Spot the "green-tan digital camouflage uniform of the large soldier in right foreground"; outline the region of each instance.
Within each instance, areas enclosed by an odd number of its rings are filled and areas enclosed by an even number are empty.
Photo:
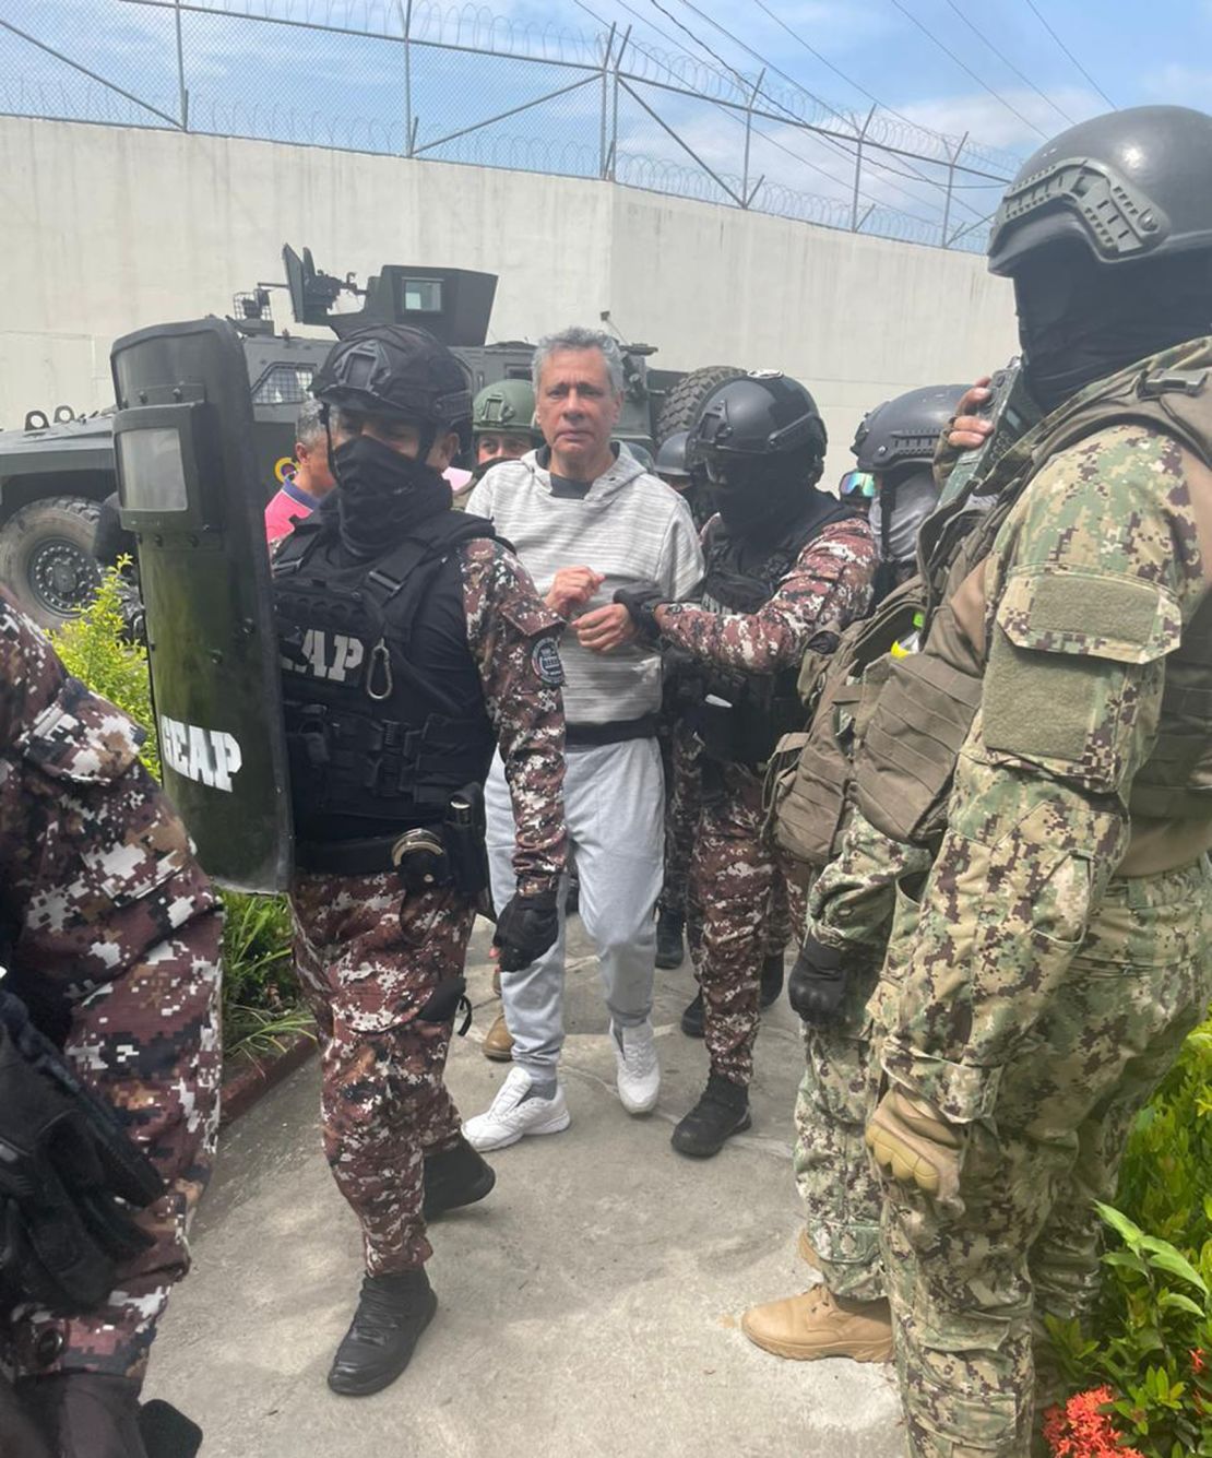
[[[887,1188],[914,1454],[1028,1451],[1038,1318],[1089,1314],[1091,1200],[1212,996],[1209,439],[1043,452],[974,582],[980,703],[875,1002],[885,1073],[963,1137],[958,1198]]]

